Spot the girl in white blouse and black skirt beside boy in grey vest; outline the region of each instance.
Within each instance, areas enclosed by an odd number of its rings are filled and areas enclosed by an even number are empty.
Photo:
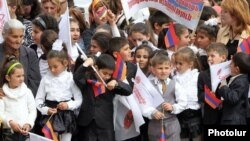
[[[187,105],[178,119],[181,124],[181,139],[201,139],[201,111],[197,97],[197,82],[199,72],[196,68],[197,57],[194,52],[187,47],[179,49],[175,53],[175,65],[177,74],[174,77],[175,94],[178,97],[186,97]],[[173,114],[177,114],[175,107],[169,106],[167,109]]]

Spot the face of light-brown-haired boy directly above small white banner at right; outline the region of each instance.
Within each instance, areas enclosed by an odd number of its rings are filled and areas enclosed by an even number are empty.
[[[220,64],[226,60],[226,55],[220,55],[216,51],[207,52],[207,61],[209,65]]]

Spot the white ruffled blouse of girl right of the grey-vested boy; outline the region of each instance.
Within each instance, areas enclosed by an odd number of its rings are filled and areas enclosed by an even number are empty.
[[[188,69],[183,74],[177,73],[175,80],[175,95],[178,98],[186,97],[187,106],[185,109],[197,110],[200,108],[198,103],[198,75],[197,69]]]

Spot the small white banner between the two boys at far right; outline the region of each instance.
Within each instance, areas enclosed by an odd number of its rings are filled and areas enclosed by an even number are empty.
[[[230,74],[230,63],[231,61],[227,61],[220,64],[215,64],[210,66],[210,74],[211,74],[211,84],[212,84],[212,91],[215,92],[218,84],[225,80]]]

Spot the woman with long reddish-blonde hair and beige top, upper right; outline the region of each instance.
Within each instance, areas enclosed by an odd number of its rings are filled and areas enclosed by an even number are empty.
[[[242,40],[250,35],[249,5],[246,0],[224,0],[221,8],[221,20],[226,25],[219,30],[217,42],[227,46],[231,59]]]

